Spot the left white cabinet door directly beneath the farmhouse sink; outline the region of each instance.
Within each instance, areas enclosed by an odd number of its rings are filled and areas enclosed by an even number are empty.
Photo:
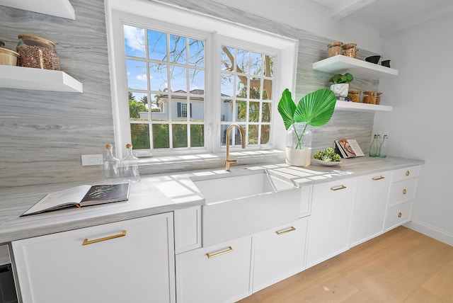
[[[251,245],[245,236],[176,255],[177,302],[236,302],[251,295]]]

